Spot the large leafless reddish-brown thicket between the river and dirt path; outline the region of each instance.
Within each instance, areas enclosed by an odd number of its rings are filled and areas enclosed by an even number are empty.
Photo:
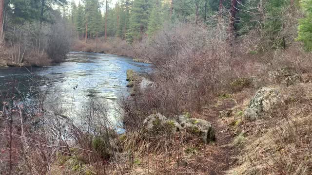
[[[216,33],[204,25],[179,23],[168,26],[148,44],[135,44],[136,57],[149,59],[155,67],[150,78],[157,88],[137,90],[128,108],[136,117],[144,118],[153,111],[173,117],[212,103],[223,84],[221,77],[231,76],[224,37],[222,30]]]

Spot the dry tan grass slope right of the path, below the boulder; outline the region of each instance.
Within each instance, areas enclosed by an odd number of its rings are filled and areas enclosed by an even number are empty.
[[[234,144],[242,146],[241,156],[228,174],[311,174],[311,90],[312,84],[283,88],[288,101],[272,118],[235,125],[246,137],[240,144],[240,135],[234,140]]]

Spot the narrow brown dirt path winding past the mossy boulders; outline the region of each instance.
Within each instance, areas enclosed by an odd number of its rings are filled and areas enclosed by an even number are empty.
[[[195,170],[197,175],[223,175],[234,163],[235,150],[230,146],[233,141],[233,131],[229,124],[219,118],[219,111],[234,107],[235,102],[230,99],[221,101],[217,106],[204,109],[202,119],[212,123],[216,132],[216,141],[203,145],[200,153],[193,157],[194,161],[188,166]]]

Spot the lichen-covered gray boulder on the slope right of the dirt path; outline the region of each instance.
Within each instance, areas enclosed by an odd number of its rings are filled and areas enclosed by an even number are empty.
[[[244,116],[250,120],[260,119],[281,103],[283,103],[283,99],[280,88],[260,88],[250,101]]]

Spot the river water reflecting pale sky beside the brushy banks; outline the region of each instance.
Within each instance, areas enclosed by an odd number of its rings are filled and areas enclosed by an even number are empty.
[[[118,99],[128,95],[126,70],[150,70],[149,64],[111,54],[72,52],[65,62],[55,66],[0,68],[0,94],[16,91],[35,98],[30,89],[48,92],[48,98],[62,98],[62,104],[77,108],[89,99],[105,99],[111,118],[118,117]],[[17,87],[17,88],[15,88]]]

